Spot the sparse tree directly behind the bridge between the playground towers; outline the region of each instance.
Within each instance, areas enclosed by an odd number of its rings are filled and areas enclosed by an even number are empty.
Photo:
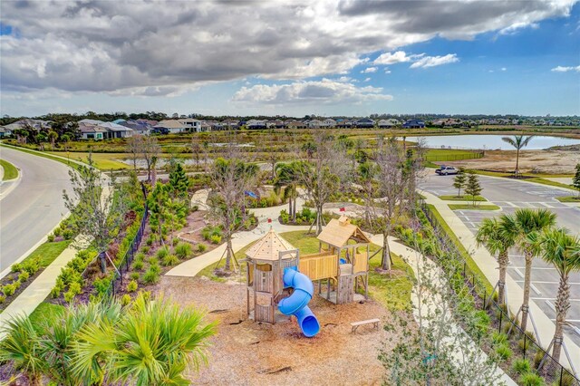
[[[346,150],[333,137],[315,131],[313,141],[305,150],[312,152],[308,160],[297,164],[296,173],[304,196],[316,209],[316,235],[323,231],[323,207],[348,175]]]

